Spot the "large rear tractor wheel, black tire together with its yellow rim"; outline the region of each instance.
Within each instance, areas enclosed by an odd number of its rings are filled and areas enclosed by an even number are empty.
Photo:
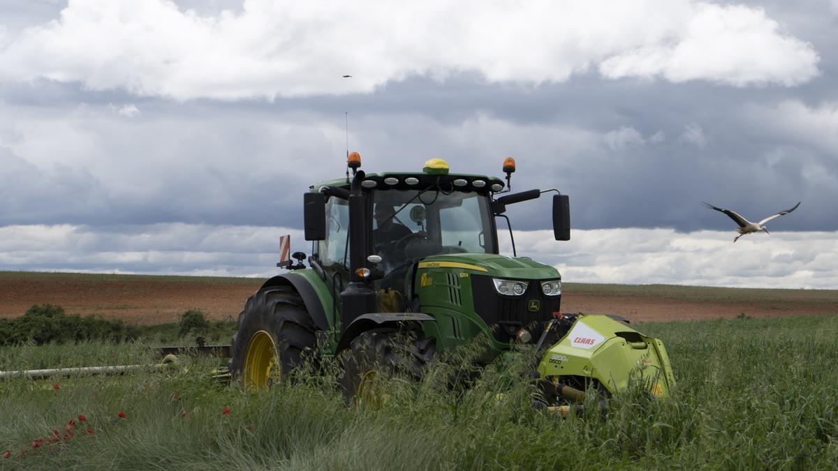
[[[230,373],[246,390],[267,389],[316,353],[316,326],[292,287],[266,287],[247,299],[230,344]]]

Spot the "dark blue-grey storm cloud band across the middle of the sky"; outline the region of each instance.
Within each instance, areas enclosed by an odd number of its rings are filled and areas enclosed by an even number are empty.
[[[134,119],[115,112],[75,116],[69,120],[75,125],[58,134],[43,123],[27,137],[41,146],[65,133],[92,133],[85,149],[91,162],[37,167],[7,149],[11,164],[3,176],[39,183],[16,184],[18,211],[0,218],[4,224],[297,224],[299,195],[308,184],[343,173],[343,111],[349,110],[350,147],[364,155],[368,170],[416,170],[427,158],[442,157],[456,171],[497,175],[502,159],[515,156],[513,188],[571,194],[580,228],[729,227],[723,216],[703,210],[701,200],[755,219],[804,200],[779,221],[785,229],[838,228],[829,203],[838,197],[835,148],[780,132],[766,117],[778,112],[786,92],[737,98],[726,87],[680,85],[679,93],[677,85],[629,87],[626,81],[572,80],[578,94],[551,87],[537,101],[475,82],[471,96],[460,96],[412,79],[395,85],[410,91],[388,87],[331,103],[154,102],[140,104]],[[702,138],[691,141],[691,132]],[[61,147],[56,141],[50,150]],[[815,164],[826,170],[820,183],[807,175]],[[548,210],[544,199],[511,214],[516,227],[536,229],[546,226]]]

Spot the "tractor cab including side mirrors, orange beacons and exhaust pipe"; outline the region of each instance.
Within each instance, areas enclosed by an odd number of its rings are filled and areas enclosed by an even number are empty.
[[[497,256],[496,216],[503,215],[507,204],[544,193],[535,189],[504,194],[515,172],[511,158],[504,162],[506,184],[486,175],[450,173],[439,158],[429,160],[422,172],[357,171],[356,153],[349,164],[355,172],[352,179],[313,186],[305,204],[306,239],[317,241],[313,260],[339,292],[352,282],[356,284],[350,298],[366,292],[359,304],[363,312],[357,315],[347,313],[347,305],[341,303],[344,325],[364,313],[420,312],[420,262],[428,257]],[[554,198],[557,240],[570,236],[566,200],[561,194]]]

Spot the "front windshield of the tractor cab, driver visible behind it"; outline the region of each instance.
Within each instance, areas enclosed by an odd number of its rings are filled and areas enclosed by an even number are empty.
[[[494,253],[491,228],[484,195],[439,189],[374,193],[373,250],[390,251],[394,263],[446,253]]]

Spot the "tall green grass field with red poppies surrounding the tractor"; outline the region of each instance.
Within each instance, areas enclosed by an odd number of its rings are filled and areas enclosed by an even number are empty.
[[[186,358],[163,373],[0,382],[0,468],[556,469],[834,468],[838,318],[647,323],[665,341],[670,400],[630,390],[603,415],[530,406],[525,359],[467,390],[448,365],[394,379],[380,406],[347,407],[334,370],[245,393]],[[0,349],[0,368],[142,363],[144,345]],[[113,355],[113,356],[111,356]],[[53,363],[53,362],[57,362]],[[36,365],[36,366],[33,366]],[[592,406],[593,404],[588,404]],[[224,408],[230,410],[224,413]],[[124,411],[125,418],[117,416]],[[185,414],[184,414],[185,412]],[[84,414],[68,440],[33,440]],[[25,456],[23,456],[25,453]]]

